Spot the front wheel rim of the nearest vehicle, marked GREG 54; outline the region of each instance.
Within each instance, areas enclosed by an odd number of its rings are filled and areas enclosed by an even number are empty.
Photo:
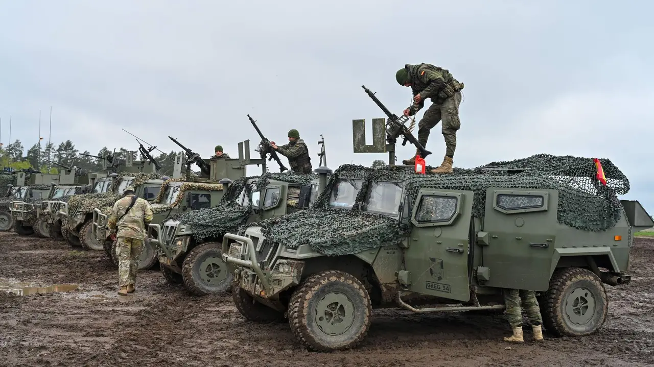
[[[343,334],[354,323],[354,303],[343,293],[329,293],[318,301],[315,321],[325,334]]]

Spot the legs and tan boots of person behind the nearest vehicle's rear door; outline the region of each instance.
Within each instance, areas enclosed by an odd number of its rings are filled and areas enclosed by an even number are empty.
[[[523,289],[502,289],[504,292],[504,305],[506,306],[506,314],[508,315],[509,325],[513,329],[513,335],[504,338],[505,342],[522,343],[523,340],[523,313],[520,309],[520,304],[525,306],[525,311],[532,324],[534,332],[534,340],[543,340],[543,319],[540,315],[540,308],[538,307],[538,300],[536,300],[536,292],[525,291]],[[522,300],[522,302],[521,302]]]

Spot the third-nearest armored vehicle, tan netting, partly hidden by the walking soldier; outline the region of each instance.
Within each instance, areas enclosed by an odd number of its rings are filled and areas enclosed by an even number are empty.
[[[175,140],[177,144],[177,140]],[[179,144],[182,149],[187,148]],[[185,159],[186,158],[186,159]],[[201,172],[199,176],[191,176],[190,164],[196,163]],[[245,169],[239,163],[239,159],[217,158],[200,159],[192,151],[186,152],[186,155],[175,157],[174,176],[181,176],[182,166],[186,165],[186,177],[175,178],[163,182],[159,194],[152,204],[154,218],[150,225],[159,225],[166,219],[175,217],[179,214],[211,208],[218,204],[223,197],[224,189],[222,183],[229,183],[232,180],[245,175]],[[107,231],[107,219],[111,212],[111,207],[104,210],[95,208],[94,211],[94,234],[96,240],[105,241],[105,248],[109,247],[107,255],[116,266],[115,246],[116,242],[111,241]],[[152,268],[158,260],[156,248],[150,244],[152,239],[148,236],[145,240],[145,249],[139,259],[139,270]]]

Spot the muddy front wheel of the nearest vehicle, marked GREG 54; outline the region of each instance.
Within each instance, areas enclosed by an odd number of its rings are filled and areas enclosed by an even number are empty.
[[[288,304],[288,323],[310,351],[342,351],[359,345],[370,329],[372,306],[351,274],[319,272],[301,283]]]

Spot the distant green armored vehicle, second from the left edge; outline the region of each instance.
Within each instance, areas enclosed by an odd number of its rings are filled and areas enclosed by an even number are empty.
[[[48,160],[46,159],[46,161]],[[12,217],[16,223],[21,224],[19,233],[21,235],[33,233],[39,238],[50,237],[48,231],[50,202],[54,199],[61,200],[63,197],[86,193],[86,189],[88,189],[88,174],[86,172],[73,165],[66,167],[60,163],[48,162],[63,168],[58,174],[58,183],[50,183],[48,195],[28,199],[27,201],[17,200],[12,202]],[[31,230],[29,230],[29,227],[31,227]]]

